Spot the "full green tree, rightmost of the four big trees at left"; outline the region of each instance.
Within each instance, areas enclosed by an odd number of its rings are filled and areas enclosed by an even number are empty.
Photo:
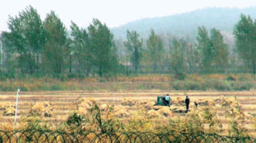
[[[118,65],[114,35],[106,24],[94,19],[88,27],[89,53],[97,73],[107,75],[115,73]],[[91,58],[91,56],[90,56]]]

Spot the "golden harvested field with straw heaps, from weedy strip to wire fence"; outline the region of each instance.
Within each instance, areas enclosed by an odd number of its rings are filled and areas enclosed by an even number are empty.
[[[170,108],[154,106],[157,95],[169,93],[174,104]],[[185,95],[190,97],[190,111],[184,113]],[[0,96],[0,129],[13,130],[14,92]],[[199,103],[195,108],[194,101]],[[170,127],[172,122],[182,126],[188,122],[207,132],[256,137],[256,91],[47,91],[22,92],[19,96],[17,128],[29,127],[36,120],[40,126],[56,129],[74,113],[89,121],[89,111],[99,106],[102,122],[115,124],[113,129],[127,131],[155,131]],[[33,115],[33,116],[31,116]],[[36,115],[36,116],[35,116]],[[31,117],[36,117],[31,119]],[[195,121],[198,120],[198,121]],[[167,124],[166,124],[167,122]],[[157,124],[156,124],[157,123]],[[24,126],[24,124],[26,126]],[[122,124],[124,127],[119,127]],[[81,125],[96,129],[94,124]],[[177,126],[177,125],[175,125]],[[179,125],[181,126],[181,125]],[[195,125],[193,125],[195,126]],[[66,128],[66,127],[65,127]]]

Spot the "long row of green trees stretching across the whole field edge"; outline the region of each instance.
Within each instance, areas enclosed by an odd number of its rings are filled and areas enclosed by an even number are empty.
[[[0,37],[5,75],[175,73],[182,79],[187,73],[256,72],[256,21],[243,14],[234,28],[235,48],[220,30],[204,26],[195,42],[153,29],[147,39],[135,30],[127,30],[125,40],[114,39],[98,19],[87,28],[71,22],[68,31],[54,11],[42,21],[32,6],[7,24]]]

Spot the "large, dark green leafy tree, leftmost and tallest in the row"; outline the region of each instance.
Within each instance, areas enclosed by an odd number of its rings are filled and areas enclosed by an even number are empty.
[[[9,39],[19,54],[19,67],[22,73],[31,74],[39,70],[39,57],[45,44],[45,30],[39,14],[32,6],[19,12],[19,16],[9,17]]]

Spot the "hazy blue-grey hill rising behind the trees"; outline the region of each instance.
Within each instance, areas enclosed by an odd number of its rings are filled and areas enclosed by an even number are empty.
[[[142,37],[146,38],[152,28],[158,34],[189,35],[194,39],[197,34],[197,27],[204,25],[207,29],[216,28],[232,34],[233,27],[239,21],[242,13],[256,18],[256,7],[244,9],[215,7],[172,16],[145,18],[112,28],[112,32],[116,39],[124,39],[127,29],[137,30]]]

